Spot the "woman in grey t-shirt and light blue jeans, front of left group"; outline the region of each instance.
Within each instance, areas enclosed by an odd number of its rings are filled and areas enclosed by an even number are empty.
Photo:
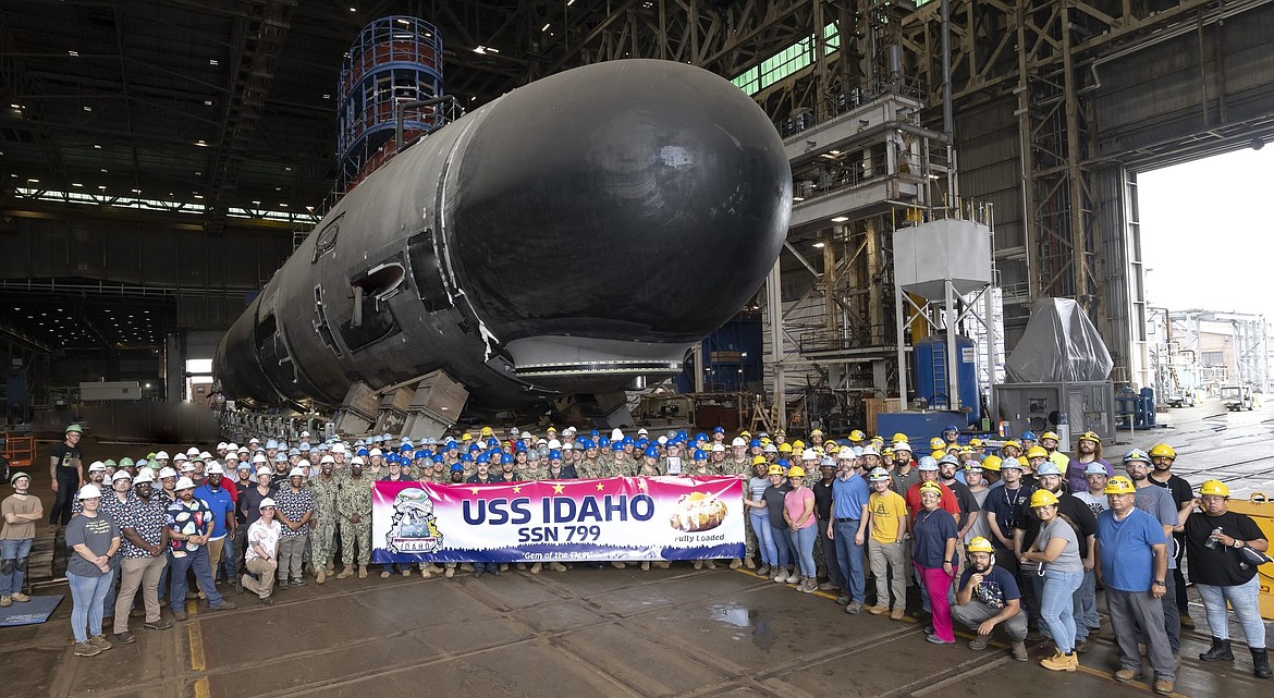
[[[92,657],[112,647],[102,634],[102,604],[115,578],[111,557],[120,549],[120,527],[98,513],[102,490],[97,485],[84,485],[78,497],[83,511],[66,524],[66,581],[75,655]]]

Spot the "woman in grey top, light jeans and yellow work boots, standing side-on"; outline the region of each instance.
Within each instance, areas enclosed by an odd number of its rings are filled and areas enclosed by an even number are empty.
[[[1040,618],[1057,646],[1057,653],[1040,660],[1040,666],[1052,671],[1075,671],[1075,590],[1084,581],[1084,562],[1079,555],[1079,536],[1070,524],[1057,516],[1057,495],[1038,489],[1031,495],[1031,508],[1040,517],[1040,535],[1029,550],[1022,553],[1022,566],[1042,566],[1043,590]]]

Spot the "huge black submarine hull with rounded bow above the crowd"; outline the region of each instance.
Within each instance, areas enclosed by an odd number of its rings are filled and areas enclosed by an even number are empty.
[[[558,73],[347,194],[227,331],[214,378],[339,406],[441,371],[483,410],[662,380],[761,287],[791,186],[775,126],[719,75]]]

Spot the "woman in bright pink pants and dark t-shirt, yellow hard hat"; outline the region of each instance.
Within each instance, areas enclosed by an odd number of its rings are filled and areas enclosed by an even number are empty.
[[[956,518],[939,504],[943,490],[936,483],[920,488],[921,511],[911,524],[912,560],[916,574],[925,583],[929,605],[934,609],[934,630],[925,639],[936,645],[956,642],[952,630],[952,608],[947,591],[956,577]]]

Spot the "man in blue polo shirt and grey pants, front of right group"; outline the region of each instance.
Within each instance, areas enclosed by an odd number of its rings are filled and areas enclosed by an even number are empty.
[[[1116,475],[1106,483],[1110,509],[1097,516],[1097,583],[1106,587],[1111,628],[1119,643],[1120,664],[1115,679],[1131,681],[1142,673],[1136,647],[1138,625],[1147,637],[1147,657],[1154,669],[1154,692],[1172,693],[1176,667],[1163,628],[1163,596],[1167,594],[1168,546],[1163,527],[1136,508],[1133,480]]]

